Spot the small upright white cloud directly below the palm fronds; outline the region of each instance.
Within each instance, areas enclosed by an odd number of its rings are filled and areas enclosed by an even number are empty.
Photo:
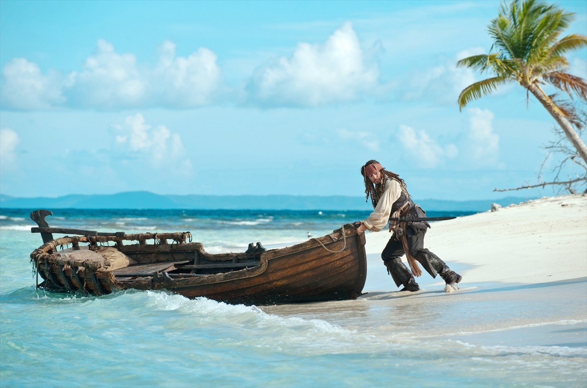
[[[500,151],[500,137],[493,132],[491,111],[468,108],[469,126],[467,132],[467,154],[478,166],[496,167]]]

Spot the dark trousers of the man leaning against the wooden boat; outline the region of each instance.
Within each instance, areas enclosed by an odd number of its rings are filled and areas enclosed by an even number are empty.
[[[433,278],[436,278],[436,274],[440,274],[443,277],[443,273],[450,269],[440,260],[438,256],[424,248],[424,235],[426,234],[426,226],[410,226],[406,230],[407,247],[413,256],[429,273]],[[402,240],[397,233],[393,233],[392,237],[387,241],[387,245],[381,253],[383,263],[387,267],[387,271],[392,275],[393,281],[397,287],[400,285],[407,285],[416,283],[414,275],[411,274],[410,270],[402,262],[402,256],[406,253],[402,244]]]

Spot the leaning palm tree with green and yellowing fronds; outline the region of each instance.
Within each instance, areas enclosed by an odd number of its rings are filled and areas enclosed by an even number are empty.
[[[548,95],[541,84],[551,84],[573,98],[573,93],[587,101],[587,83],[581,77],[566,72],[569,63],[563,56],[569,50],[587,46],[587,36],[572,34],[559,38],[573,21],[574,13],[541,1],[512,1],[502,3],[497,18],[488,26],[494,43],[489,55],[474,55],[461,59],[457,66],[470,67],[481,73],[490,71],[495,77],[465,87],[458,96],[458,106],[477,100],[505,83],[517,82],[534,94],[554,117],[573,147],[587,162],[587,147],[573,128],[581,123],[569,101],[559,101]],[[493,48],[497,52],[492,52]]]

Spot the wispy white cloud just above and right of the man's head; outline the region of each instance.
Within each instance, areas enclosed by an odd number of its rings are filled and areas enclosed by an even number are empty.
[[[447,159],[456,158],[458,155],[456,145],[447,144],[443,147],[425,131],[416,131],[407,125],[400,124],[397,139],[403,148],[413,155],[410,161],[419,167],[438,167]]]

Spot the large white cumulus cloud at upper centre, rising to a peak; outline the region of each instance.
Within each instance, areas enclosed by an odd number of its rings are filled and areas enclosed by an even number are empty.
[[[366,64],[350,22],[324,44],[299,43],[291,57],[255,70],[247,86],[251,100],[267,105],[317,106],[355,100],[376,85],[379,70]]]

